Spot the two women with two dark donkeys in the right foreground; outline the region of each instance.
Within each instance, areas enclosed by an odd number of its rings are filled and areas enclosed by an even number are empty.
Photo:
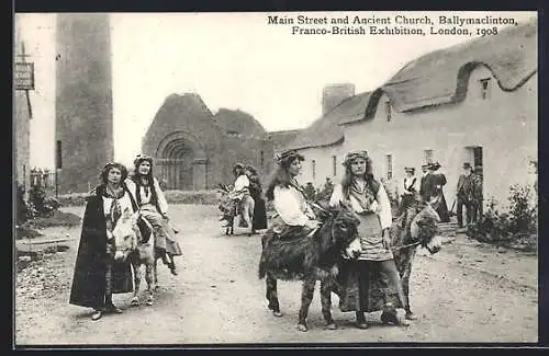
[[[277,211],[261,238],[259,277],[266,278],[269,308],[280,317],[277,279],[303,280],[298,329],[306,331],[307,310],[316,280],[328,329],[330,294],[341,311],[356,312],[356,325],[367,329],[367,312],[382,311],[381,321],[410,325],[416,319],[408,300],[408,280],[417,245],[440,249],[438,214],[429,202],[410,203],[393,222],[383,185],[374,179],[366,151],[349,152],[345,176],[327,200],[309,202],[298,183],[302,161],[295,151],[277,157],[277,170],[266,192]],[[396,310],[403,308],[405,317]]]

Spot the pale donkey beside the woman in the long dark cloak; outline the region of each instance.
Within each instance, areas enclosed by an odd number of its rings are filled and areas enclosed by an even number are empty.
[[[146,236],[142,234],[138,227],[138,221],[146,226]],[[155,238],[150,223],[141,217],[141,213],[132,213],[130,208],[125,208],[122,216],[116,221],[116,226],[112,231],[114,238],[115,253],[114,260],[128,260],[134,269],[134,297],[132,306],[139,305],[137,294],[141,285],[141,266],[145,265],[145,280],[147,282],[147,306],[154,303],[154,290],[157,290],[158,274],[157,261],[161,256],[156,252]]]

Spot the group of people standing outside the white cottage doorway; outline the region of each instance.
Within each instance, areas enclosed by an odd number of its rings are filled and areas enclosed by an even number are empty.
[[[473,169],[471,163],[464,162],[462,173],[457,184],[457,196],[450,210],[446,203],[444,186],[446,175],[441,173],[440,163],[422,165],[423,175],[415,176],[415,169],[406,166],[406,176],[403,181],[403,193],[400,196],[399,214],[405,210],[411,203],[418,198],[429,202],[440,217],[441,222],[449,222],[457,202],[458,227],[463,227],[463,207],[466,208],[466,222],[473,223],[482,216],[482,166]]]

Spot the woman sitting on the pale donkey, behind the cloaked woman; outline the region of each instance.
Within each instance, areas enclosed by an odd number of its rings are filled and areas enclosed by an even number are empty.
[[[177,275],[173,256],[181,255],[182,252],[169,223],[168,202],[158,180],[153,175],[153,158],[138,154],[134,160],[134,174],[125,183],[135,197],[141,214],[153,226],[156,252],[171,274]]]

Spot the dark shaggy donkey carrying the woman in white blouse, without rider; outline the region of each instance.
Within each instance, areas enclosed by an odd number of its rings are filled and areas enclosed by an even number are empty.
[[[314,295],[316,280],[321,280],[322,313],[328,329],[336,329],[332,319],[332,291],[338,290],[337,261],[341,251],[356,237],[359,220],[346,205],[336,208],[316,206],[321,226],[310,234],[287,227],[285,233],[277,233],[271,227],[261,238],[259,278],[266,278],[269,309],[281,317],[277,296],[277,279],[302,280],[301,308],[298,329],[307,331],[306,318]]]

